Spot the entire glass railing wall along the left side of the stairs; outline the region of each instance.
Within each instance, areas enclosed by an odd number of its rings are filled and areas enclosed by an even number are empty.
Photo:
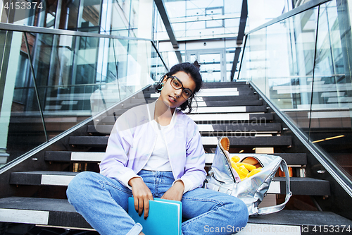
[[[167,72],[149,40],[0,34],[0,166]]]

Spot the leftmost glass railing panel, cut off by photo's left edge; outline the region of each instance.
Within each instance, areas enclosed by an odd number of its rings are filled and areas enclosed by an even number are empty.
[[[0,167],[46,142],[23,41],[23,32],[0,31]]]

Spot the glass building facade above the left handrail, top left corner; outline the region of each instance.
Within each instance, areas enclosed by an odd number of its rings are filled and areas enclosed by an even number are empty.
[[[153,37],[152,0],[33,0],[28,1],[32,4],[25,9],[10,8],[10,2],[4,0],[4,4],[0,5],[1,23],[150,40]],[[34,2],[40,5],[34,7]]]

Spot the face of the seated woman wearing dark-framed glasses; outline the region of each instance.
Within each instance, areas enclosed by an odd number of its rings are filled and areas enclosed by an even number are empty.
[[[196,83],[194,80],[184,71],[179,71],[175,74],[172,74],[181,81],[183,88],[188,88],[191,92],[194,92],[196,89]],[[172,78],[168,78],[165,76],[163,83],[164,87],[161,90],[161,95],[158,100],[163,100],[163,102],[170,108],[180,107],[186,101],[186,98],[182,96],[182,88],[176,90],[171,85]]]

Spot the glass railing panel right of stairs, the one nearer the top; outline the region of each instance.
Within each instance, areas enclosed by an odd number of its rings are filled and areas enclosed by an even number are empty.
[[[308,135],[318,8],[248,36],[240,78],[261,92]]]

